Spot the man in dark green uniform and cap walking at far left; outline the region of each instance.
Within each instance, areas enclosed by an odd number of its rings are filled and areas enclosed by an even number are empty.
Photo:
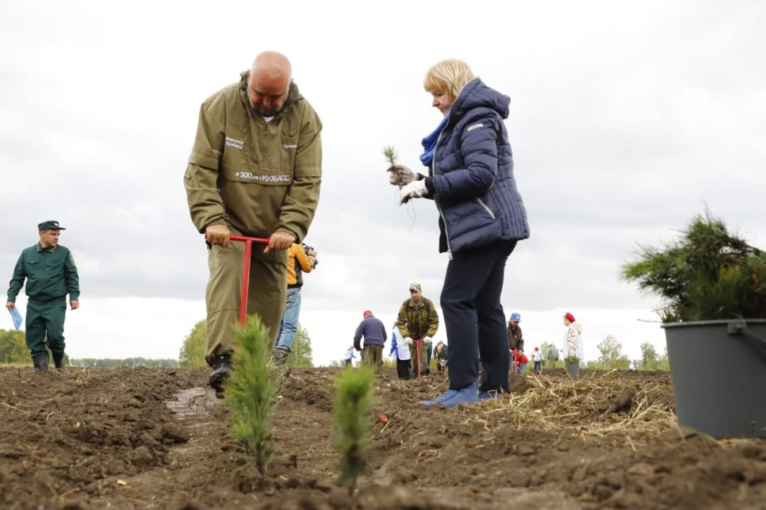
[[[21,252],[8,287],[5,307],[16,307],[16,296],[27,286],[26,339],[31,352],[34,372],[47,372],[47,348],[59,372],[69,372],[64,366],[64,315],[67,313],[67,294],[72,310],[80,307],[80,278],[72,253],[58,244],[61,230],[57,221],[38,225],[40,242]]]

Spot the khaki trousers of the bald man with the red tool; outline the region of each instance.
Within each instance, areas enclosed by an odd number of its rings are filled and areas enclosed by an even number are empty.
[[[234,232],[232,232],[234,233]],[[244,242],[232,241],[228,248],[208,249],[210,279],[205,292],[208,306],[208,351],[214,356],[234,350],[234,326],[239,323]],[[280,332],[287,292],[287,252],[264,253],[264,245],[253,244],[250,282],[247,287],[247,315],[256,313],[269,329],[271,352]]]

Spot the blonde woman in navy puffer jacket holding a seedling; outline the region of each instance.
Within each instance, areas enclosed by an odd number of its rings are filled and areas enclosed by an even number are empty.
[[[486,86],[460,60],[435,64],[424,87],[444,119],[423,140],[428,176],[402,187],[399,202],[434,199],[439,251],[450,254],[440,298],[450,388],[421,404],[451,408],[508,391],[510,353],[500,294],[506,260],[516,242],[529,237],[529,225],[503,124],[509,97]]]

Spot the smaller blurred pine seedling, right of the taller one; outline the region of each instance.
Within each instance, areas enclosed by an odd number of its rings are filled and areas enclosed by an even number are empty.
[[[368,414],[372,410],[372,379],[368,367],[345,369],[336,381],[336,448],[341,479],[353,495],[358,476],[367,470]]]

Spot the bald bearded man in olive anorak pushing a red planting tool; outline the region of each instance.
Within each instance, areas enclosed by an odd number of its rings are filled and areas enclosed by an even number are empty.
[[[271,352],[285,307],[286,249],[305,238],[319,202],[321,132],[290,61],[273,51],[202,103],[184,184],[208,243],[206,359],[218,392],[231,373],[241,295],[244,245],[231,235],[269,238],[265,249],[253,247],[247,313],[269,328]]]

